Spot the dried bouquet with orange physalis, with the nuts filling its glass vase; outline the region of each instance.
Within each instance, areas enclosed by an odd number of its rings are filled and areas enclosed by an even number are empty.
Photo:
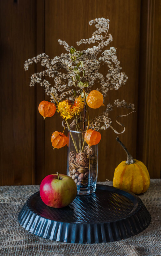
[[[58,40],[67,53],[62,53],[53,59],[42,53],[28,59],[24,65],[25,70],[33,62],[40,62],[45,67],[44,71],[31,76],[30,83],[30,86],[34,86],[35,83],[44,86],[47,95],[51,97],[50,102],[42,101],[39,105],[39,112],[44,119],[54,115],[57,110],[65,120],[68,129],[75,129],[78,132],[78,143],[76,137],[70,132],[74,151],[69,152],[69,175],[77,185],[85,184],[85,186],[91,182],[90,168],[91,171],[93,169],[94,174],[92,174],[94,177],[92,182],[97,178],[97,171],[94,173],[97,168],[97,154],[91,146],[97,145],[101,139],[99,129],[111,127],[112,121],[109,118],[109,112],[113,110],[114,106],[134,109],[133,104],[127,104],[124,100],[117,99],[113,104],[107,104],[106,109],[101,110],[94,119],[90,118],[88,107],[97,109],[105,106],[103,102],[108,90],[118,90],[126,83],[128,76],[121,72],[116,49],[110,47],[109,50],[104,50],[104,47],[113,40],[112,35],[108,34],[109,19],[94,19],[89,24],[95,24],[96,30],[90,38],[81,39],[77,45],[96,44],[93,47],[77,51],[65,41]],[[99,71],[103,65],[107,67],[106,76]],[[45,79],[46,76],[54,79],[54,86],[51,86]],[[96,82],[99,82],[100,86],[93,90],[92,86]],[[73,121],[69,124],[69,120],[72,118]],[[63,126],[65,129],[64,122]],[[68,138],[64,135],[64,131],[55,131],[51,141],[54,148],[61,148],[68,143]]]

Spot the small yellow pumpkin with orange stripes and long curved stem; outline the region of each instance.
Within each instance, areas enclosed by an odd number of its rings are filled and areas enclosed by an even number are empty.
[[[119,140],[127,153],[127,161],[122,161],[114,171],[113,186],[122,190],[128,190],[134,194],[144,193],[150,185],[150,176],[143,162],[133,159],[127,148]]]

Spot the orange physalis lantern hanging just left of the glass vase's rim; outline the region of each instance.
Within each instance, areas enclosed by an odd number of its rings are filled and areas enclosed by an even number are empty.
[[[68,138],[62,132],[53,132],[51,136],[52,146],[55,148],[62,148],[67,144]]]

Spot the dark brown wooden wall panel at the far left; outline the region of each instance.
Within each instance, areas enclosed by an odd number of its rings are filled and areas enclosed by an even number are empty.
[[[35,1],[0,1],[1,42],[1,185],[33,184],[34,96],[29,87],[34,66],[24,61],[36,53]]]

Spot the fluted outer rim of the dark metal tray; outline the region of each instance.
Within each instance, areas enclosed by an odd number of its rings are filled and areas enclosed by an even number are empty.
[[[139,199],[139,201],[141,201]],[[67,223],[45,219],[31,211],[27,202],[18,214],[22,227],[39,237],[54,241],[93,244],[118,241],[148,227],[151,216],[143,202],[129,217],[106,223]]]

